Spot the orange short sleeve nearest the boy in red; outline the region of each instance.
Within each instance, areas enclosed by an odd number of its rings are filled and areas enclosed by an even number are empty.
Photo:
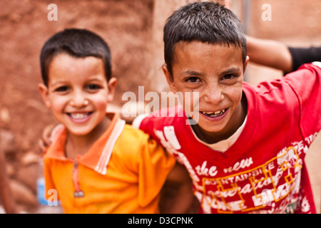
[[[175,165],[175,157],[149,136],[141,144],[138,157],[139,190],[138,202],[145,207],[161,192],[170,170]]]

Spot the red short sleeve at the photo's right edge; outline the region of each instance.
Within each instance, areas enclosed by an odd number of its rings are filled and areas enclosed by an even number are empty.
[[[287,74],[285,81],[295,91],[300,107],[300,128],[303,136],[315,134],[321,129],[321,68],[305,64]]]

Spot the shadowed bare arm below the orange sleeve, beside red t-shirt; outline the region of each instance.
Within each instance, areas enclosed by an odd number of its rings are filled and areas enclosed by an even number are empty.
[[[165,214],[198,212],[198,201],[193,195],[192,180],[190,180],[185,167],[178,162],[168,174],[163,186],[160,210]]]

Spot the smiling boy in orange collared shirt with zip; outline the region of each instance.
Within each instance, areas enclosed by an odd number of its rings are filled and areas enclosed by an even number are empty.
[[[117,79],[100,36],[56,33],[41,50],[41,76],[39,92],[61,123],[44,156],[46,192],[56,190],[63,212],[157,213],[166,180],[179,186],[166,212],[187,212],[193,194],[185,168],[149,135],[106,114]]]

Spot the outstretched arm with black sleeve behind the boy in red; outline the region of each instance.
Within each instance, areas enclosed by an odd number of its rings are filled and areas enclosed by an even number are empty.
[[[321,61],[321,46],[287,46],[280,41],[246,36],[250,61],[284,73],[296,71],[304,63]]]

